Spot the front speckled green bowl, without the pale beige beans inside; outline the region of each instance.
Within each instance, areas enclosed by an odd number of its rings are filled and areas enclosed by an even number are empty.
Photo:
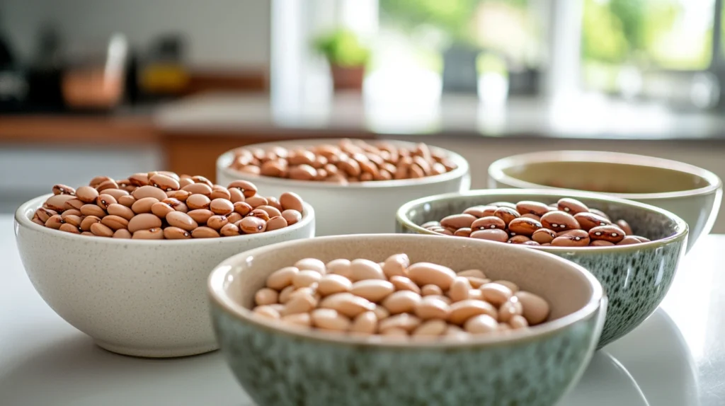
[[[550,321],[466,342],[394,342],[290,329],[252,315],[254,292],[301,258],[405,252],[455,270],[481,268],[550,302]],[[554,405],[584,371],[606,299],[584,268],[555,255],[423,235],[348,235],[270,245],[236,255],[210,275],[222,352],[257,405]]]

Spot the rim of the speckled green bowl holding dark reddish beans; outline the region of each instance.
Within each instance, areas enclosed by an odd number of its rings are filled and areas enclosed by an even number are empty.
[[[623,206],[631,206],[635,208],[639,208],[641,210],[650,211],[654,213],[658,213],[662,216],[666,216],[670,221],[674,223],[676,232],[672,234],[669,237],[662,238],[660,240],[653,240],[649,242],[642,242],[640,244],[630,244],[630,245],[613,245],[609,247],[552,247],[552,246],[536,246],[536,245],[526,245],[526,248],[533,248],[534,250],[541,250],[545,252],[550,253],[601,253],[603,252],[626,252],[626,251],[637,251],[642,250],[645,248],[657,248],[661,247],[663,245],[668,245],[673,242],[677,241],[687,241],[687,236],[689,234],[689,227],[687,226],[687,223],[679,218],[679,216],[676,216],[676,214],[671,213],[669,211],[666,211],[662,208],[658,208],[655,206],[650,206],[646,203],[639,203],[632,200],[626,200],[622,198],[613,198],[609,195],[602,195],[601,193],[590,193],[590,192],[581,192],[576,190],[556,190],[556,189],[484,189],[484,190],[468,190],[465,192],[454,192],[454,193],[444,193],[441,195],[434,195],[434,196],[428,196],[426,198],[419,198],[415,200],[410,200],[409,202],[405,203],[404,205],[400,206],[398,208],[397,212],[395,213],[395,217],[397,219],[398,224],[400,224],[401,227],[406,227],[407,229],[411,229],[414,232],[418,234],[434,234],[438,235],[436,232],[432,232],[430,230],[424,229],[423,227],[419,226],[418,224],[413,223],[410,219],[408,219],[406,213],[410,211],[411,209],[415,207],[420,207],[426,204],[435,203],[438,201],[444,201],[444,200],[455,200],[456,198],[470,198],[470,197],[479,197],[479,196],[506,196],[506,195],[514,195],[514,196],[543,196],[543,197],[560,197],[560,198],[584,198],[584,199],[592,199],[592,200],[599,200],[602,202],[610,202],[610,203],[617,203]],[[444,236],[444,237],[455,237],[455,236]],[[458,237],[458,238],[466,238],[468,237]],[[500,242],[497,242],[498,244],[501,244]]]

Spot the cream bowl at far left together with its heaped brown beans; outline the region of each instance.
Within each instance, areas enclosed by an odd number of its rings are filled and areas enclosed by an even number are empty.
[[[144,172],[52,192],[15,213],[25,271],[59,316],[125,355],[216,350],[209,271],[244,250],[315,233],[314,211],[299,196],[263,197],[241,180]]]

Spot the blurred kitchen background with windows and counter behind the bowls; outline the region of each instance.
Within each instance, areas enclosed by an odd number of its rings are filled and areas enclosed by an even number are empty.
[[[249,143],[397,138],[725,177],[721,0],[0,0],[0,212]],[[718,223],[716,232],[725,232]]]

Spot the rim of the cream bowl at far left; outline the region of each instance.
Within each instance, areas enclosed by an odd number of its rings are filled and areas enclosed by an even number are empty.
[[[32,198],[25,203],[22,203],[20,207],[15,210],[15,234],[17,236],[17,227],[25,227],[27,229],[33,230],[34,232],[41,232],[41,233],[52,233],[53,237],[56,238],[62,238],[65,240],[70,241],[83,241],[88,242],[90,241],[98,241],[98,242],[105,242],[107,244],[115,244],[115,245],[168,245],[168,246],[183,246],[183,245],[194,245],[194,244],[201,244],[202,242],[217,242],[217,243],[239,243],[246,240],[255,240],[255,239],[262,239],[265,237],[273,237],[275,235],[279,234],[285,234],[287,232],[293,232],[298,229],[304,229],[310,226],[310,224],[314,224],[315,221],[315,209],[312,208],[310,203],[302,202],[302,219],[297,221],[297,223],[292,224],[291,226],[284,227],[282,229],[276,229],[270,232],[260,232],[258,234],[241,234],[241,235],[235,235],[234,237],[219,237],[219,238],[188,238],[186,240],[132,240],[132,239],[126,239],[126,238],[104,238],[104,237],[96,237],[89,239],[88,236],[80,235],[80,234],[72,234],[70,232],[62,232],[57,229],[51,229],[49,227],[43,227],[40,224],[33,223],[32,217],[28,217],[25,215],[25,213],[35,213],[38,208],[43,206],[43,202],[45,202],[50,196],[52,196],[52,193],[49,193],[47,195],[38,196],[37,198]],[[32,208],[32,211],[30,209]]]

